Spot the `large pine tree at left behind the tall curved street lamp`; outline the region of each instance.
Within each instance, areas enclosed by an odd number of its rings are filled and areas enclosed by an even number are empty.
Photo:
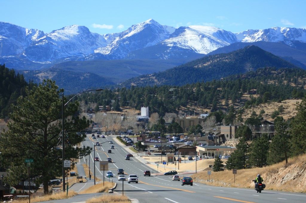
[[[62,99],[58,86],[51,80],[44,80],[33,90],[26,90],[26,96],[17,100],[13,107],[9,130],[2,134],[0,151],[4,163],[10,170],[8,182],[13,185],[24,178],[24,159],[33,158],[31,173],[37,175],[36,183],[43,183],[44,193],[49,192],[49,180],[62,175],[62,150],[59,133],[62,131]],[[64,102],[67,99],[64,98]],[[86,135],[78,135],[89,121],[80,119],[75,113],[77,102],[70,102],[64,109],[65,116],[65,159],[79,158],[89,154],[90,148],[78,147]],[[12,156],[13,155],[13,156]]]

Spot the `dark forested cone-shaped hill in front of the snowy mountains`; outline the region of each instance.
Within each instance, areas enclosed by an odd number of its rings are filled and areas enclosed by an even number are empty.
[[[258,68],[297,68],[254,45],[226,54],[206,56],[163,72],[127,80],[121,87],[148,85],[185,85],[255,71]]]

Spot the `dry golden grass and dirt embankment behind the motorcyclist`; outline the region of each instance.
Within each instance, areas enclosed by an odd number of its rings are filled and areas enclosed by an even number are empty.
[[[306,192],[306,155],[290,158],[287,165],[285,161],[263,168],[237,170],[234,184],[234,174],[232,171],[211,171],[210,180],[206,171],[200,172],[192,177],[199,182],[215,186],[225,187],[247,187],[253,188],[257,174],[261,174],[266,189]]]

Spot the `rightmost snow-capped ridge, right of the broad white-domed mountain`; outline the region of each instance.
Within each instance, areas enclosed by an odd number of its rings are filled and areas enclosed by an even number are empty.
[[[301,28],[272,27],[263,30],[246,30],[235,34],[237,39],[241,42],[279,42],[295,40],[306,42],[306,29]]]

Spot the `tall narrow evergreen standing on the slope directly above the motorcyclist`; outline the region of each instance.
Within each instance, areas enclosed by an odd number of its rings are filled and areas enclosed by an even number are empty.
[[[277,116],[274,120],[275,135],[269,146],[269,154],[267,162],[274,164],[286,160],[288,163],[288,155],[290,151],[290,134],[288,132],[288,122],[283,117]]]

